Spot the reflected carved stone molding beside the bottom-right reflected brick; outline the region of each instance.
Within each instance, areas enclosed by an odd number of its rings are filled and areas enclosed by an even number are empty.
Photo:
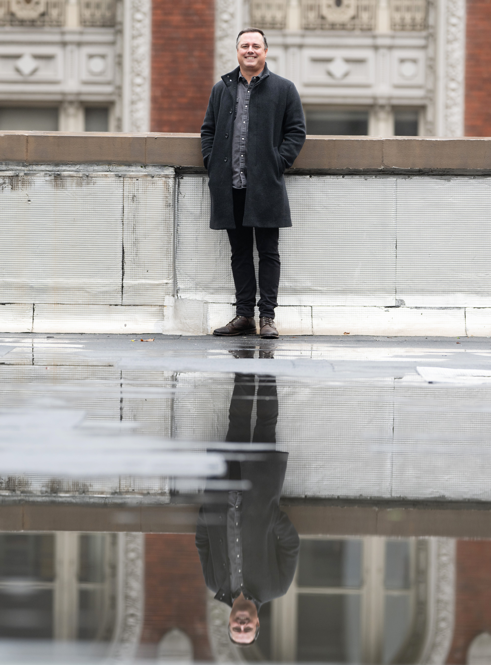
[[[456,544],[454,539],[435,538],[432,546],[429,628],[420,662],[441,665],[446,662],[454,631]]]

